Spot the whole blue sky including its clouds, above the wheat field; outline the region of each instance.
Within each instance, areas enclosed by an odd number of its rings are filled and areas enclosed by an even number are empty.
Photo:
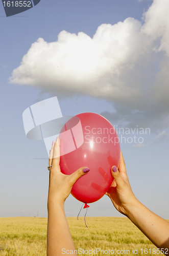
[[[124,129],[150,127],[142,146],[121,148],[136,197],[169,219],[168,8],[167,0],[41,0],[5,17],[1,5],[0,217],[47,217],[48,161],[36,159],[47,152],[27,139],[22,112],[57,96],[63,115],[95,112]],[[107,196],[90,206],[88,216],[122,216]],[[70,195],[66,215],[80,207]]]

